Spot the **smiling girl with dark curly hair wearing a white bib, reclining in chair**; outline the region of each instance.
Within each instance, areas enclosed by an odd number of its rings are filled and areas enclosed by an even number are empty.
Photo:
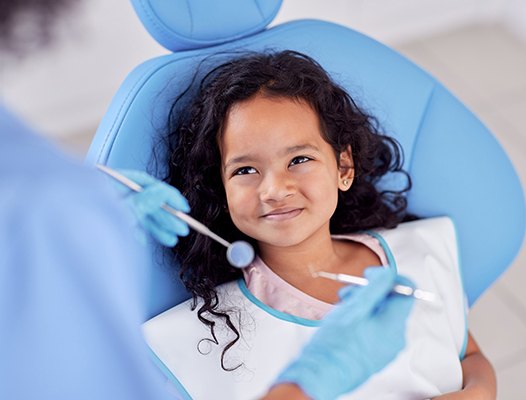
[[[193,299],[145,334],[191,396],[264,393],[338,299],[342,284],[312,271],[361,276],[381,265],[440,300],[416,305],[406,349],[349,398],[495,398],[493,370],[467,333],[451,221],[401,223],[409,177],[398,191],[377,189],[388,173],[407,176],[397,142],[319,64],[292,51],[247,55],[209,72],[184,113],[179,103],[169,183],[197,220],[258,254],[241,272],[202,235],[174,248]],[[201,379],[185,375],[188,364]]]

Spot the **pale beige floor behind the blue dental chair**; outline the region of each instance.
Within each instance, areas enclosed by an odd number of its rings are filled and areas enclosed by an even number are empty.
[[[440,79],[495,132],[526,183],[526,43],[503,27],[470,26],[396,48]],[[82,156],[94,132],[61,140]],[[475,304],[470,329],[498,379],[499,400],[526,393],[526,247]]]

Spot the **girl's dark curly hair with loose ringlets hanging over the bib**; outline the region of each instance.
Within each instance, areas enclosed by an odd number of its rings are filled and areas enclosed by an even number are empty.
[[[196,79],[197,81],[197,79]],[[219,140],[231,107],[258,93],[307,102],[318,114],[324,139],[336,159],[349,146],[355,178],[348,191],[340,191],[330,221],[331,233],[349,233],[370,228],[392,228],[405,217],[404,193],[411,187],[402,169],[398,143],[379,132],[377,121],[362,111],[327,72],[312,58],[294,51],[250,53],[236,56],[212,68],[179,96],[170,114],[170,160],[168,182],[188,199],[192,215],[229,241],[254,240],[232,223],[221,180]],[[184,100],[191,97],[192,100]],[[181,112],[180,104],[185,111]],[[387,173],[401,173],[407,185],[399,191],[380,191],[376,184]],[[192,293],[194,308],[203,301],[198,318],[209,326],[212,339],[214,318],[224,319],[236,338],[238,330],[229,314],[218,309],[216,286],[241,276],[226,261],[225,249],[209,238],[192,232],[173,249],[181,264],[180,276]],[[237,368],[237,367],[236,367]],[[232,369],[232,368],[231,368]]]

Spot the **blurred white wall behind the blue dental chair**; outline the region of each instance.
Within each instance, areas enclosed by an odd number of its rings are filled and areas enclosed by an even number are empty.
[[[524,0],[284,0],[275,23],[319,18],[383,42],[418,38],[466,23],[503,18],[526,26]],[[522,23],[521,23],[522,22]],[[85,133],[104,114],[126,74],[165,53],[128,0],[89,0],[60,27],[62,39],[22,63],[0,66],[0,96],[49,136]],[[524,32],[526,37],[526,32]]]

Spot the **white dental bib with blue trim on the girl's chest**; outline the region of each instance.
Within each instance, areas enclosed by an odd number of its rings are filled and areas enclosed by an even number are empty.
[[[417,287],[436,293],[440,301],[416,301],[408,319],[406,348],[382,371],[341,398],[421,400],[461,389],[466,303],[452,222],[433,218],[370,234],[384,247],[391,268],[409,276]],[[210,331],[197,312],[191,311],[190,301],[146,322],[146,340],[168,378],[184,389],[183,398],[259,398],[301,351],[320,321],[264,305],[242,280],[221,285],[218,295],[222,310],[235,310],[231,318],[241,334],[224,360],[226,368],[241,364],[236,370],[221,368],[221,352],[233,333],[217,319],[219,345],[203,341],[211,337]]]

